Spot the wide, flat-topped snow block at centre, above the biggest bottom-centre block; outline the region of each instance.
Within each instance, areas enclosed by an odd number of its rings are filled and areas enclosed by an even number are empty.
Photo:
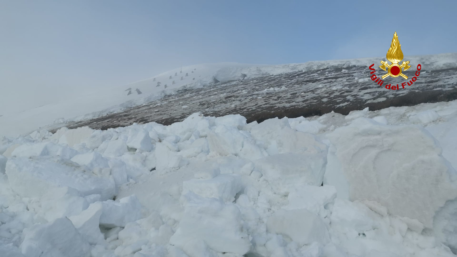
[[[182,182],[182,194],[193,192],[202,197],[214,197],[224,202],[233,202],[235,195],[243,190],[241,176],[222,174],[211,179],[191,179]]]

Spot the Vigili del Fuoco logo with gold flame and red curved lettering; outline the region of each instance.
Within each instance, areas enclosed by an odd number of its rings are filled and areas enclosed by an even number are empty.
[[[387,78],[388,76],[391,76],[393,78],[401,76],[405,80],[408,80],[408,76],[403,74],[402,69],[403,69],[403,71],[405,71],[405,70],[408,70],[409,68],[411,68],[411,66],[408,65],[409,61],[404,61],[401,65],[399,65],[399,62],[401,62],[403,60],[403,52],[401,51],[401,44],[399,42],[399,37],[397,36],[397,32],[395,32],[393,34],[392,43],[390,43],[390,48],[387,51],[386,58],[392,64],[388,64],[388,62],[381,61],[381,64],[383,64],[383,65],[379,66],[379,68],[381,68],[384,71],[387,71],[387,74],[382,75],[381,76],[382,79],[377,77],[376,74],[374,74],[376,72],[376,70],[372,68],[374,66],[374,64],[371,64],[369,67],[369,69],[372,70],[372,72],[370,72],[370,74],[372,74],[371,79],[374,82],[377,82],[377,84],[379,86],[383,85],[383,83],[384,83],[383,79]],[[415,76],[412,77],[408,82],[403,82],[401,84],[402,88],[404,88],[404,86],[406,86],[406,84],[408,84],[408,86],[413,85],[414,81],[416,81],[417,77],[419,77],[421,68],[422,68],[422,66],[420,66],[420,64],[417,64],[417,71],[414,74]],[[392,89],[392,90],[399,90],[400,86],[399,86],[399,84],[397,84],[397,86],[391,86],[391,84],[388,84],[385,86],[385,88]]]

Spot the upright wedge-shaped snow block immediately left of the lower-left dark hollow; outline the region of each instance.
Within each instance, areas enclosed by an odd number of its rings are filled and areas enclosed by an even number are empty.
[[[80,214],[69,217],[74,227],[92,245],[96,245],[105,239],[99,228],[101,213],[102,203],[97,202],[90,204],[89,208]]]

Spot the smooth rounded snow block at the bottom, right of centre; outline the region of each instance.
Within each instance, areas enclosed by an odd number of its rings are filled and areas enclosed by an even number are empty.
[[[324,221],[306,209],[279,209],[268,218],[266,229],[269,233],[288,236],[300,246],[314,241],[324,246],[330,241]]]

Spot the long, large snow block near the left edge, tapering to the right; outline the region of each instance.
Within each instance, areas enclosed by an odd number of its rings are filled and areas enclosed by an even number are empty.
[[[112,177],[96,177],[73,161],[58,156],[11,158],[6,162],[11,188],[21,197],[42,197],[50,188],[71,187],[81,196],[100,194],[102,200],[114,196]]]

